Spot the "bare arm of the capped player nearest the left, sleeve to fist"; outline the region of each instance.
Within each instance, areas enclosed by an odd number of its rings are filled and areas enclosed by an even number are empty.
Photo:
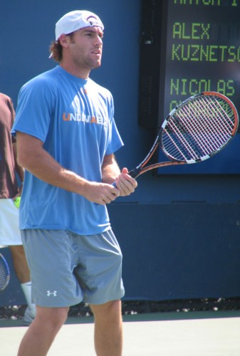
[[[43,142],[36,137],[17,132],[16,143],[19,165],[43,182],[65,189],[68,192],[80,194],[97,204],[110,203],[120,195],[119,190],[111,184],[89,182],[62,167],[56,159],[44,150]]]

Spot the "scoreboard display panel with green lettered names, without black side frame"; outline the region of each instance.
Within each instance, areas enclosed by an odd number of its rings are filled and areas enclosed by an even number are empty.
[[[239,111],[240,1],[170,0],[166,10],[165,115],[209,90],[226,95]]]

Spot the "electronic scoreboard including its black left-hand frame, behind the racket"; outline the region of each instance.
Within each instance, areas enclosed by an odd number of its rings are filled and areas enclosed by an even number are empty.
[[[240,0],[142,0],[139,124],[160,127],[179,103],[209,90],[240,113]]]

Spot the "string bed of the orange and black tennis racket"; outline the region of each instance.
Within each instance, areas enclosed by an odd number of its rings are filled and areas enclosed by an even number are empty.
[[[177,108],[162,130],[162,145],[177,160],[205,159],[231,140],[235,116],[219,97],[199,96]]]

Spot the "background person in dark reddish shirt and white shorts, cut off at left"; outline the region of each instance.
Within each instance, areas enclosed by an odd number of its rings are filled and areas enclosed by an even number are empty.
[[[36,310],[31,303],[31,281],[19,231],[19,209],[14,205],[14,199],[21,194],[16,174],[19,181],[24,180],[24,169],[16,163],[16,139],[11,137],[14,117],[11,98],[0,93],[0,245],[10,248],[14,271],[28,304],[24,325],[29,325]]]

